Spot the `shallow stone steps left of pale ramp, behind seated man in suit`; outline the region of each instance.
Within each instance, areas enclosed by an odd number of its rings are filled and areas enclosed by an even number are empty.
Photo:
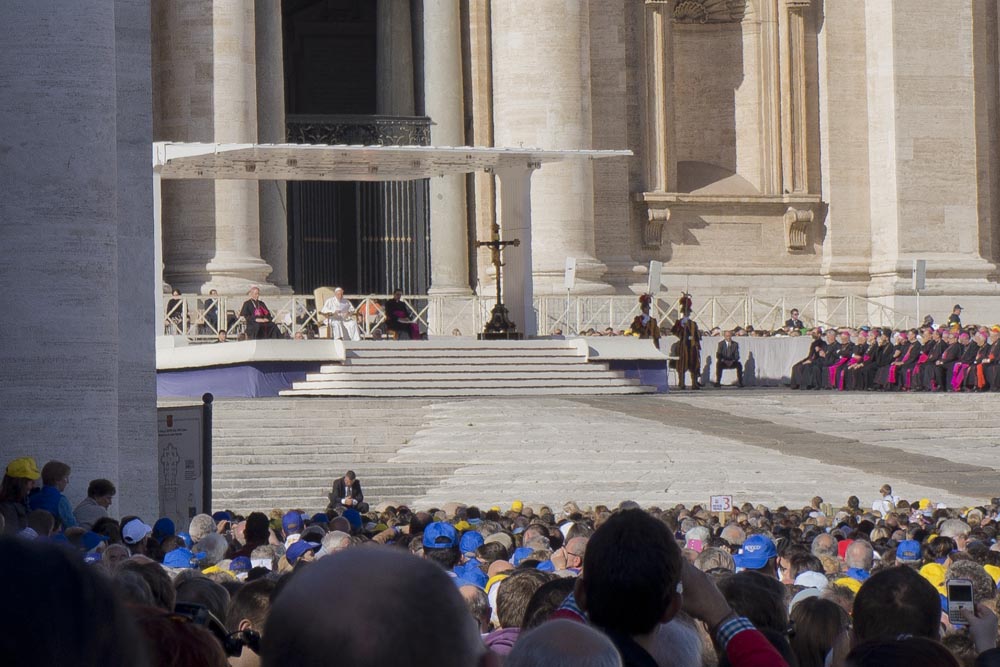
[[[421,401],[220,399],[213,410],[212,506],[242,513],[326,508],[333,480],[354,470],[366,499],[423,495],[454,466],[391,463],[421,427]]]

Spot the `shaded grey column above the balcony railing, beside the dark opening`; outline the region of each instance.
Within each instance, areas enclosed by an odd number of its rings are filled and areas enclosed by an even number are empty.
[[[413,27],[410,0],[378,0],[376,43],[378,113],[384,116],[412,116]]]

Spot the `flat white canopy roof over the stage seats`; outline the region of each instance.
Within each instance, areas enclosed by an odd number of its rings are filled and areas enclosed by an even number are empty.
[[[153,144],[161,178],[276,181],[408,181],[448,174],[539,167],[563,160],[628,157],[632,151],[548,151],[482,146]]]

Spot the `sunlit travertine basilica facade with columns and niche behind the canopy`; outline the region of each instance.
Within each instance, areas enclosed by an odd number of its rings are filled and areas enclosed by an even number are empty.
[[[536,294],[1000,295],[990,0],[156,0],[155,140],[630,149],[532,177]],[[490,293],[491,174],[164,185],[183,291]],[[498,221],[501,228],[503,220]],[[940,301],[940,304],[936,303]],[[932,306],[933,304],[933,306]]]

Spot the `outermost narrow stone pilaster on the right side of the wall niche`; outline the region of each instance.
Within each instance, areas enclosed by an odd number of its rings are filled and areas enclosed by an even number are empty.
[[[783,0],[781,22],[782,191],[809,190],[806,118],[806,19],[811,0]]]

